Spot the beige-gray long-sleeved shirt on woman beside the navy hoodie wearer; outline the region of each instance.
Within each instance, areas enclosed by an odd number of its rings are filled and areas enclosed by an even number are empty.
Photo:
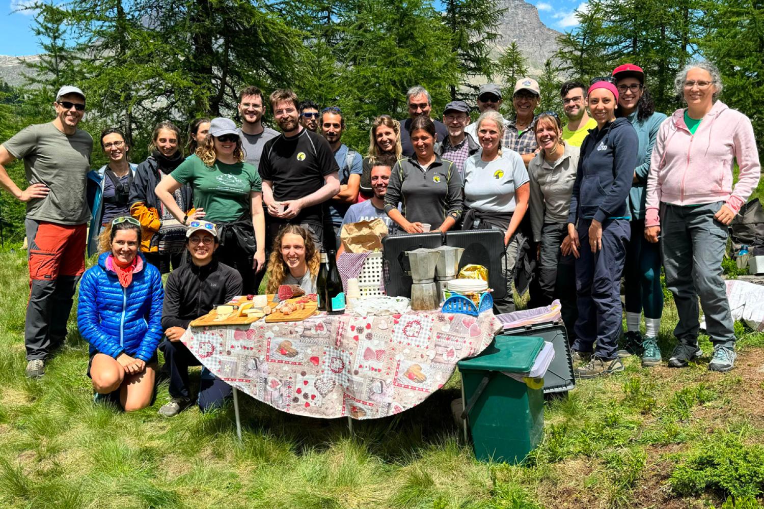
[[[539,152],[528,163],[530,224],[533,241],[541,241],[545,223],[567,223],[571,192],[578,169],[579,147],[565,143],[562,156],[553,163]]]

